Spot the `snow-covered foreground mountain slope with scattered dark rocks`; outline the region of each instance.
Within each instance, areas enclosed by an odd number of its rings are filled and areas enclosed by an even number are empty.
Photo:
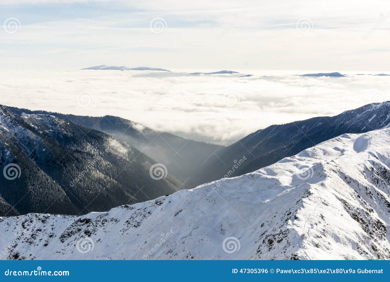
[[[390,129],[344,134],[106,213],[2,218],[0,248],[11,259],[390,259],[389,158]]]

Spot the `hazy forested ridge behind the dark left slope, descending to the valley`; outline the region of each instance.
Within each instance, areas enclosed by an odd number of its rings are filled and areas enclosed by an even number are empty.
[[[191,178],[194,169],[201,167],[213,153],[218,153],[225,148],[225,146],[187,140],[167,132],[157,132],[137,122],[112,115],[90,117],[13,107],[9,107],[9,110],[18,115],[23,112],[53,115],[85,128],[93,128],[112,135],[133,145],[156,162],[163,163],[168,169],[168,174],[182,182]]]

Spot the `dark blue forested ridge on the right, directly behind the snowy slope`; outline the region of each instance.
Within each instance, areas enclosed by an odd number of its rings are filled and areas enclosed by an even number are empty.
[[[211,156],[191,178],[191,186],[226,175],[233,177],[253,172],[343,133],[364,133],[388,123],[390,101],[365,105],[333,117],[314,117],[268,126]],[[245,162],[237,167],[237,161],[243,156]]]

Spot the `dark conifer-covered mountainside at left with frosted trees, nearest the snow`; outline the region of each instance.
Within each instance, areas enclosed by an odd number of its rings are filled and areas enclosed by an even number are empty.
[[[155,163],[100,131],[0,108],[0,215],[106,211],[185,187],[152,179]]]

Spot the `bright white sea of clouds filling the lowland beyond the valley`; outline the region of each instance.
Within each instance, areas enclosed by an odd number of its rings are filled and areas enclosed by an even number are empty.
[[[294,74],[310,71],[253,70],[188,75],[193,71],[209,70],[7,71],[0,104],[115,115],[158,132],[227,145],[272,124],[337,115],[390,99],[390,76],[302,77]],[[361,72],[347,74],[354,73]],[[244,74],[254,76],[238,77]]]

